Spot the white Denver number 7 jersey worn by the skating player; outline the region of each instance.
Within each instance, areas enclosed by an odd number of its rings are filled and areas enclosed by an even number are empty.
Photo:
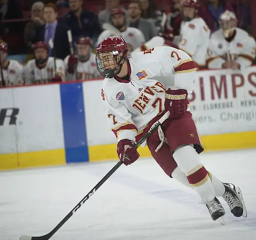
[[[118,141],[135,140],[164,110],[166,88],[191,93],[197,69],[188,54],[168,46],[137,53],[129,63],[130,82],[105,78],[101,90],[106,116]]]

